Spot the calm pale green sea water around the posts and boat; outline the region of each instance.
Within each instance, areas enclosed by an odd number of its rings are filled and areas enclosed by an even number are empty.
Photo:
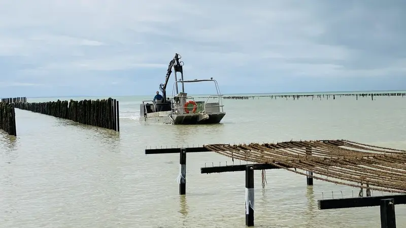
[[[406,97],[224,100],[218,125],[141,124],[139,104],[152,96],[114,97],[119,133],[16,109],[18,137],[0,133],[0,227],[245,227],[244,172],[200,174],[230,159],[188,154],[179,196],[179,155],[146,156],[146,146],[349,139],[406,148]],[[308,187],[286,170],[266,177],[262,188],[255,172],[256,227],[380,227],[379,207],[317,208],[331,192],[359,189],[319,180]],[[406,206],[396,205],[396,221],[406,227]]]

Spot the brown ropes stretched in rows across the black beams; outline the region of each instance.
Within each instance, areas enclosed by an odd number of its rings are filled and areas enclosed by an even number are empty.
[[[229,158],[273,164],[301,175],[307,176],[306,171],[312,171],[313,178],[336,184],[406,193],[406,150],[349,140],[211,144],[204,147]]]

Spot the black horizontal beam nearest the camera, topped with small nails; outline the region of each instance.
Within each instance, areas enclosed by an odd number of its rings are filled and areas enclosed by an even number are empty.
[[[353,208],[353,207],[374,207],[380,206],[381,200],[394,199],[395,204],[406,204],[406,194],[379,197],[355,197],[344,199],[318,200],[319,210]]]

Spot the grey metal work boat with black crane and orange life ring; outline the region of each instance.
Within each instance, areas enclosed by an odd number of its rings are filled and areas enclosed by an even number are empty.
[[[162,92],[162,100],[142,101],[140,104],[140,122],[162,123],[162,124],[218,124],[225,116],[223,110],[223,99],[220,88],[216,80],[183,80],[183,62],[179,59],[181,56],[175,54],[171,60],[166,73],[165,83],[159,86]],[[172,73],[172,67],[175,69],[175,82],[172,89],[172,96],[166,97],[166,86]],[[176,72],[181,73],[181,79],[177,80]],[[185,93],[186,83],[213,82],[217,94],[208,95],[206,100],[196,101],[192,96]],[[178,84],[182,85],[182,92],[178,90]],[[176,92],[176,93],[175,93]],[[209,101],[209,99],[214,99]]]

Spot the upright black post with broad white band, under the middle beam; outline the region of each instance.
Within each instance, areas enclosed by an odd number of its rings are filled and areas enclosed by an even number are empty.
[[[254,226],[254,167],[245,168],[245,224]]]

